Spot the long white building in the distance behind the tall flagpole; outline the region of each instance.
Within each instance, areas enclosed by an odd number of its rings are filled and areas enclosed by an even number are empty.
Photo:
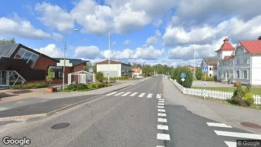
[[[109,66],[108,66],[109,64]],[[97,72],[102,72],[104,77],[121,77],[121,76],[131,76],[131,65],[113,61],[113,60],[105,60],[97,63]]]

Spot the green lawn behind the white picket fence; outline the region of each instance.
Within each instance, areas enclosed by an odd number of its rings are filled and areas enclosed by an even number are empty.
[[[191,87],[196,89],[204,89],[204,87]],[[207,90],[217,90],[217,91],[228,91],[234,92],[236,87],[206,87]],[[245,90],[245,88],[243,88]],[[253,95],[261,95],[261,88],[253,88],[251,89],[251,93]]]

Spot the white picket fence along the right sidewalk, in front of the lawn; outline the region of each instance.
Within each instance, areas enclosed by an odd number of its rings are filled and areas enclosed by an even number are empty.
[[[170,81],[173,82],[174,85],[185,95],[203,97],[205,92],[206,98],[217,98],[217,99],[224,99],[224,100],[230,100],[233,96],[233,92],[216,91],[216,90],[204,91],[204,89],[185,88],[172,78],[170,78]],[[260,95],[253,95],[253,98],[255,99],[255,104],[261,104]]]

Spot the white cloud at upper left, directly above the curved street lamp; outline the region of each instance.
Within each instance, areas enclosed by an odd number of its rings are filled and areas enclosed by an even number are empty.
[[[71,15],[58,5],[50,3],[37,3],[35,10],[42,15],[38,19],[43,25],[58,29],[59,31],[67,31],[74,28],[74,20]]]

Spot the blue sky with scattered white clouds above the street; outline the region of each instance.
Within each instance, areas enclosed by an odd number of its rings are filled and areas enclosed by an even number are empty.
[[[261,0],[6,0],[0,39],[15,38],[50,57],[92,63],[196,66],[215,57],[224,38],[261,36]],[[14,4],[15,3],[15,4]],[[110,35],[109,35],[110,32]],[[109,41],[110,36],[110,41]],[[109,46],[110,43],[110,46]],[[110,47],[110,53],[109,53]]]

